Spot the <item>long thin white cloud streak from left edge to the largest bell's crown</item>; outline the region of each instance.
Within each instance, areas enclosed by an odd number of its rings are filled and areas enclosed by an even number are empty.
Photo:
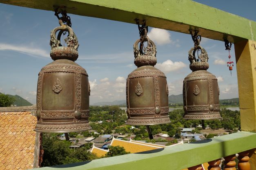
[[[32,57],[40,56],[40,57],[50,57],[49,52],[40,48],[34,48],[29,46],[16,46],[12,44],[4,44],[0,43],[0,50],[11,50],[20,52],[22,54],[28,54]]]

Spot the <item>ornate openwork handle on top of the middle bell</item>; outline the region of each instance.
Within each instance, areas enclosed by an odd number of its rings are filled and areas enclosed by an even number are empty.
[[[143,49],[138,48],[139,42],[144,43],[146,41],[147,41],[147,48],[146,48],[145,55],[156,57],[156,45],[154,44],[153,41],[151,41],[149,39],[149,37],[145,36],[145,37],[143,37],[142,41],[141,41],[141,39],[137,39],[137,41],[134,43],[134,57],[135,58],[143,55],[143,52],[141,52],[141,50],[143,50]]]

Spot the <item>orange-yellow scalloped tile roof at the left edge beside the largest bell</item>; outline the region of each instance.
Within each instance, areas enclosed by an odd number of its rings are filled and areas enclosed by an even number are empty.
[[[36,120],[31,111],[0,112],[0,170],[33,168]]]

